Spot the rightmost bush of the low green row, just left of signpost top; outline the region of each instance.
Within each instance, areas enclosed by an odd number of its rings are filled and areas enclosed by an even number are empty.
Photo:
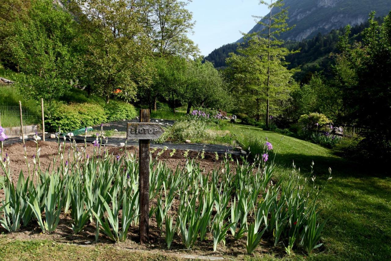
[[[136,109],[130,103],[124,101],[111,100],[104,105],[108,121],[119,121],[123,119],[133,119],[137,116]]]

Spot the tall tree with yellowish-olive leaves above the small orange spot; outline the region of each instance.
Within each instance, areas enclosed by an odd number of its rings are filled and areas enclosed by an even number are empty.
[[[137,86],[148,86],[152,77],[146,66],[150,44],[141,23],[144,1],[75,0],[72,6],[85,42],[85,85],[107,102],[114,92],[136,100]]]

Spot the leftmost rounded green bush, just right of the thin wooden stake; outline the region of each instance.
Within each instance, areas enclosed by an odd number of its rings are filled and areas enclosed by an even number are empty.
[[[62,132],[81,128],[79,113],[69,105],[53,101],[45,109],[45,126],[49,132]]]

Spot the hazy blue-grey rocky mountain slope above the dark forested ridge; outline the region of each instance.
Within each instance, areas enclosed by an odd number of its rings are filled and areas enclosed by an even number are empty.
[[[347,24],[357,25],[368,20],[371,11],[376,16],[385,16],[391,9],[389,0],[285,0],[289,7],[287,20],[291,31],[281,35],[283,40],[301,41],[312,38],[317,33],[327,33]],[[272,10],[272,14],[278,10]],[[256,24],[249,33],[262,30]],[[241,41],[241,40],[239,40]]]

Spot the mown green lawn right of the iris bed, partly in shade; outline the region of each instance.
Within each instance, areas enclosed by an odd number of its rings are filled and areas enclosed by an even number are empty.
[[[262,141],[267,137],[274,148],[281,141],[276,156],[280,176],[289,175],[293,160],[302,175],[309,175],[313,160],[314,173],[321,180],[328,177],[331,167],[333,179],[322,191],[319,205],[321,218],[329,218],[323,231],[325,250],[310,259],[391,259],[390,177],[376,171],[370,162],[348,161],[330,149],[276,132],[234,125],[231,133],[251,133]]]

